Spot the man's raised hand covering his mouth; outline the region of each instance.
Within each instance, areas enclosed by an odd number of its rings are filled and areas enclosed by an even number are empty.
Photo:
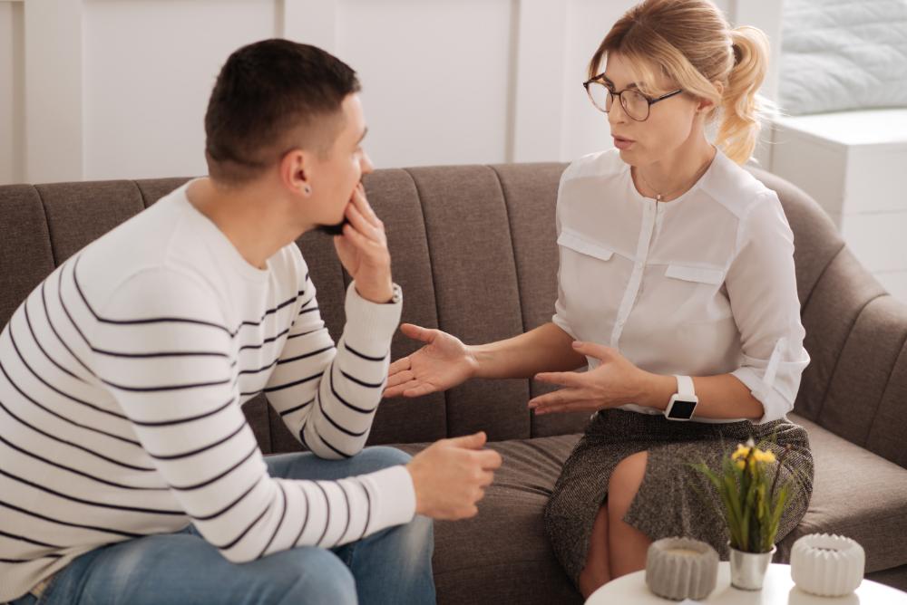
[[[334,238],[337,256],[356,281],[360,296],[372,303],[387,303],[394,295],[394,283],[385,225],[368,205],[361,183],[346,205],[346,218],[349,223],[344,226],[343,235]]]

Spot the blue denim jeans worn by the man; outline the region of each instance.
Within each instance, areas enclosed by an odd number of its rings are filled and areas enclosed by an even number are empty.
[[[288,479],[341,479],[409,456],[392,447],[367,447],[348,460],[312,454],[268,456],[268,473]],[[303,546],[257,561],[231,563],[190,525],[86,552],[59,571],[40,599],[14,605],[317,605],[434,603],[433,525],[416,516],[356,543],[334,549]]]

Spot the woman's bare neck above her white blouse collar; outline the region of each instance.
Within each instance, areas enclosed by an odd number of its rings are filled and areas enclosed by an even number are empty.
[[[695,145],[683,145],[666,158],[633,167],[636,188],[646,197],[668,202],[682,196],[705,174],[717,149],[704,137]]]

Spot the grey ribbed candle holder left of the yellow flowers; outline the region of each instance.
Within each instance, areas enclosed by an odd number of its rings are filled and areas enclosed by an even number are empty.
[[[718,553],[689,538],[663,538],[649,545],[646,584],[659,597],[705,599],[715,590]]]

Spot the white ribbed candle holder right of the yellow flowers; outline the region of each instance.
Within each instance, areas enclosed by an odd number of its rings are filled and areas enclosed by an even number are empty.
[[[800,590],[820,597],[841,597],[863,581],[866,553],[850,538],[810,533],[791,549],[791,578]]]

